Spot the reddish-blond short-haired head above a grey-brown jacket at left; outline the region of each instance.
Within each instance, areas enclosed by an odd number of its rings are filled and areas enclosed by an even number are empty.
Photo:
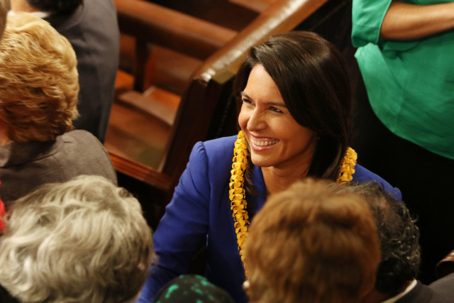
[[[29,13],[8,16],[0,48],[0,121],[11,141],[50,141],[77,117],[77,59],[68,40]]]

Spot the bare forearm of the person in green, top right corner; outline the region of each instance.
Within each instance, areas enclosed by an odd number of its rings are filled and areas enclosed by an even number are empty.
[[[416,5],[392,1],[380,28],[380,38],[410,40],[454,28],[454,2]]]

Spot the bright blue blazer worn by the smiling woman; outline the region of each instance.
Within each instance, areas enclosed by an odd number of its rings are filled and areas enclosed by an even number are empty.
[[[235,302],[248,302],[243,291],[243,264],[238,253],[232,211],[228,199],[233,147],[236,136],[194,145],[186,170],[175,188],[172,201],[154,234],[158,264],[150,268],[150,277],[139,302],[152,302],[167,282],[189,269],[194,252],[206,241],[206,277],[231,294]],[[387,192],[401,199],[399,189],[378,175],[356,165],[353,180],[376,180]],[[255,166],[254,187],[258,195],[247,197],[258,211],[266,200],[262,170]]]

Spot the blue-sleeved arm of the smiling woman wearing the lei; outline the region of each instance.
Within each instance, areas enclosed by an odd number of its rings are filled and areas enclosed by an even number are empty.
[[[139,303],[150,303],[170,280],[186,274],[194,252],[206,241],[210,187],[203,143],[196,143],[172,201],[153,235],[158,263],[140,294]]]

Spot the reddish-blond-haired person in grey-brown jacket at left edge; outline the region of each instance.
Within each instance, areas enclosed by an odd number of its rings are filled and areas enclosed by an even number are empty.
[[[116,183],[103,145],[72,131],[78,94],[68,40],[29,13],[9,15],[0,48],[0,197],[7,209],[40,184],[77,175]]]

